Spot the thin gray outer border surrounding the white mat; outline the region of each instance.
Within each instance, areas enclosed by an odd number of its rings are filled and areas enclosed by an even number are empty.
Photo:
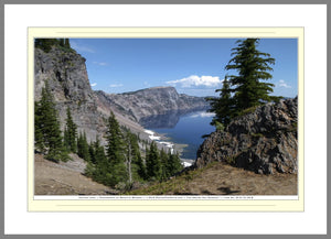
[[[78,3],[84,3],[84,4],[105,4],[105,3],[135,3],[135,4],[328,4],[328,13],[330,12],[330,1],[331,0],[1,0],[1,19],[0,19],[0,26],[1,26],[1,33],[4,35],[4,4],[56,4],[56,3],[63,3],[63,4],[78,4]],[[331,90],[331,85],[330,85],[330,14],[328,14],[328,91]],[[245,238],[245,239],[254,239],[254,238],[267,238],[267,239],[275,239],[275,238],[330,238],[330,174],[328,174],[328,235],[213,235],[213,236],[205,236],[205,235],[181,235],[181,236],[175,236],[175,235],[137,235],[137,236],[128,236],[128,235],[84,235],[84,236],[78,236],[78,235],[4,235],[4,37],[0,39],[0,56],[1,56],[1,64],[0,64],[0,111],[1,111],[1,117],[0,117],[0,169],[1,169],[1,177],[0,177],[0,186],[1,186],[1,197],[0,197],[0,205],[1,205],[1,218],[0,221],[0,238],[26,238],[26,239],[39,239],[39,238],[137,238],[137,239],[149,239],[149,238]],[[331,105],[331,96],[328,95],[328,161],[330,160],[330,149],[331,149],[331,143],[330,143],[330,105]],[[330,170],[330,163],[328,162],[328,171]],[[318,221],[311,221],[312,226],[313,224],[318,224]]]

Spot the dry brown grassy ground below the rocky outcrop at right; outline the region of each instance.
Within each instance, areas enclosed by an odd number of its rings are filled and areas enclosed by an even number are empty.
[[[297,195],[297,175],[259,175],[213,163],[130,195]]]

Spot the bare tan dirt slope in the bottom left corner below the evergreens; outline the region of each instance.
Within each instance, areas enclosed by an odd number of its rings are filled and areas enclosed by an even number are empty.
[[[54,163],[34,155],[34,195],[106,195],[109,187],[82,175],[86,163],[76,155],[67,163]]]

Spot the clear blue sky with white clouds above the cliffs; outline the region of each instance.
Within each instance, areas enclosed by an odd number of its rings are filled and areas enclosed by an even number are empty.
[[[174,86],[179,93],[213,96],[222,88],[225,66],[237,39],[71,39],[86,58],[95,90],[125,93],[154,86]],[[271,95],[298,93],[296,39],[261,39],[257,48],[276,59]]]

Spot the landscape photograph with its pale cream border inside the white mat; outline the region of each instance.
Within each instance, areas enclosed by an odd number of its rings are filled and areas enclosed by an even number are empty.
[[[29,28],[29,211],[303,211],[303,28]]]

